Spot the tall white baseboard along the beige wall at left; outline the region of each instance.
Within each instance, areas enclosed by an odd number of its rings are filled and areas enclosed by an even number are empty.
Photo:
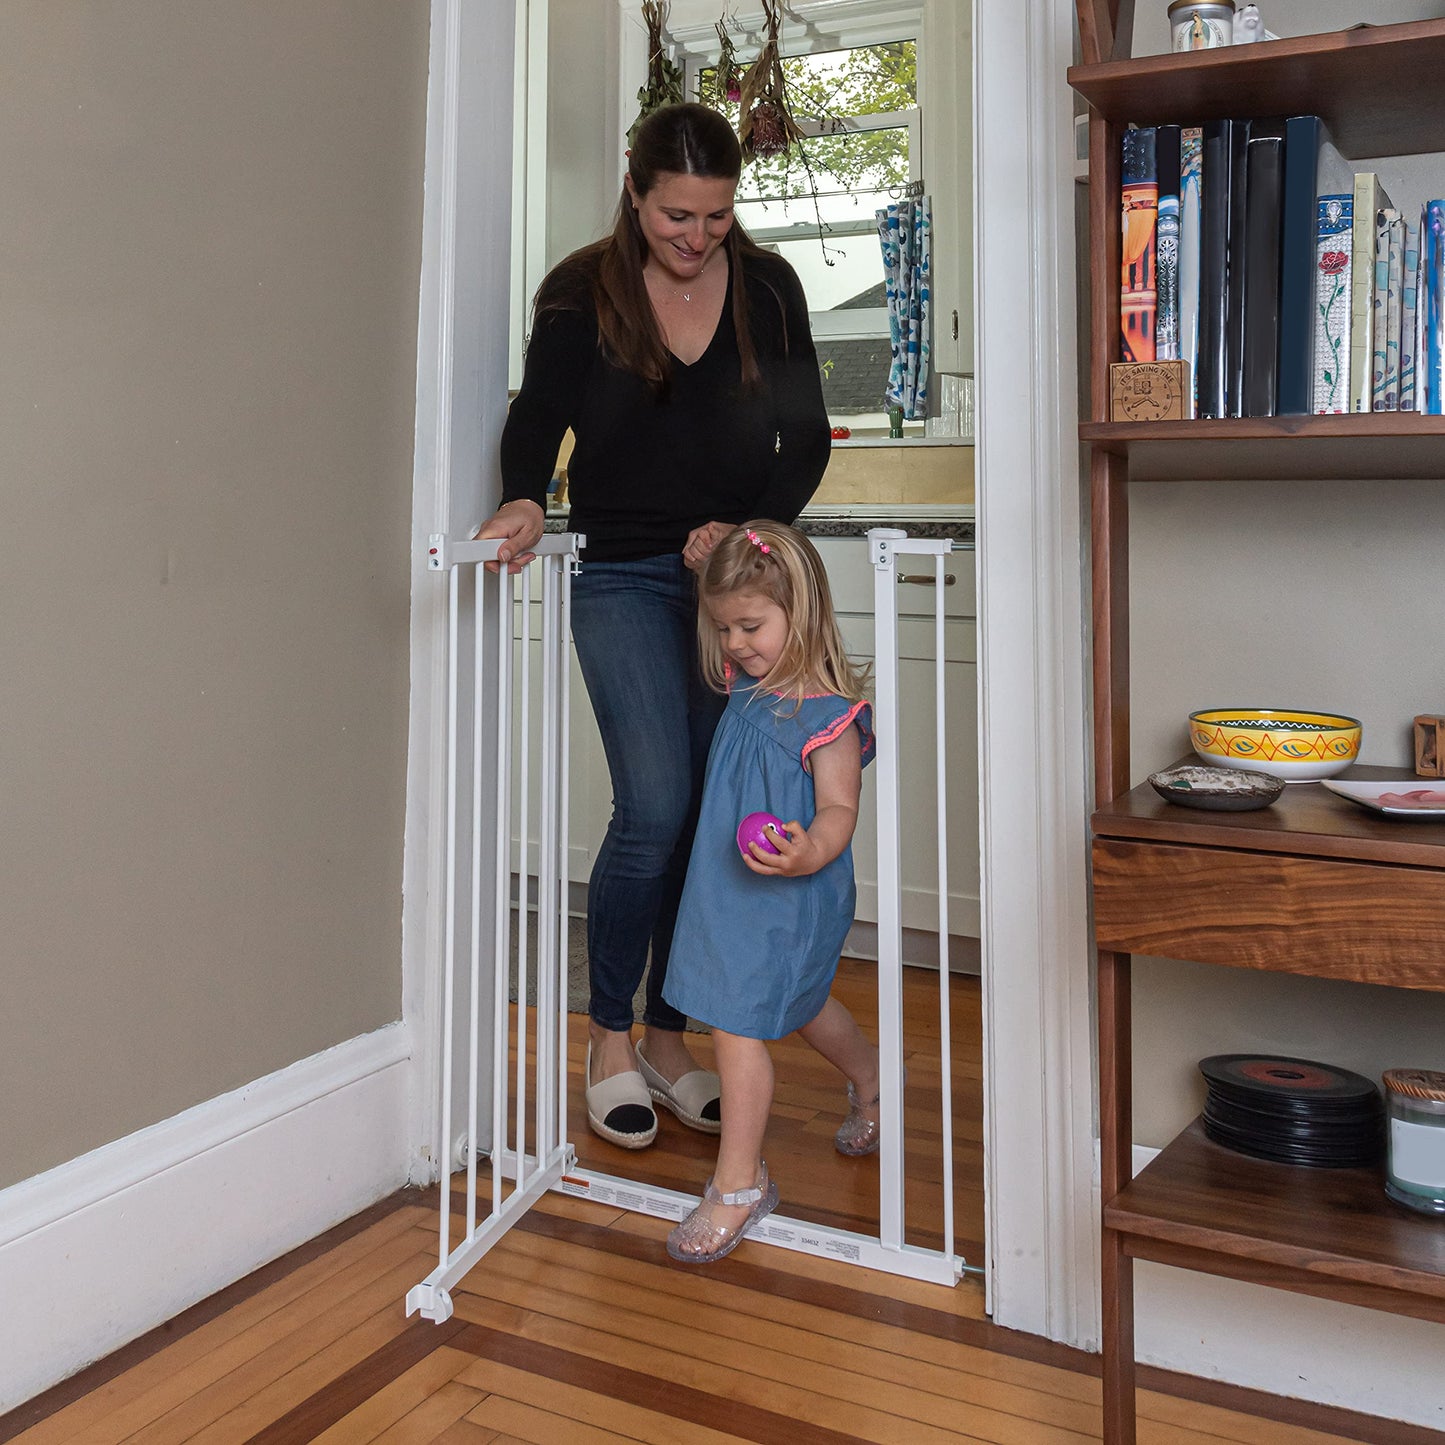
[[[0,1192],[0,1412],[407,1181],[394,1023]]]

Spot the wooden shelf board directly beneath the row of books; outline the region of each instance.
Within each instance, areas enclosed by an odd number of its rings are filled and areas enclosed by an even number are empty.
[[[1445,416],[1416,412],[1084,422],[1079,441],[1127,457],[1130,481],[1445,478]]]

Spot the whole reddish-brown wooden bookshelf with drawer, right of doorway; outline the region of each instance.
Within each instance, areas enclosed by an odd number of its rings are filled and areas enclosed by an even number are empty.
[[[1133,481],[1445,480],[1445,418],[1108,420],[1120,332],[1120,137],[1130,124],[1322,114],[1351,158],[1445,150],[1445,20],[1127,59],[1129,0],[1077,0],[1090,117],[1094,928],[1098,945],[1104,1439],[1134,1441],[1133,1261],[1445,1321],[1445,1228],[1379,1170],[1299,1169],[1186,1129],[1133,1178],[1133,955],[1445,990],[1445,825],[1318,785],[1196,812],[1130,786]],[[1386,770],[1374,770],[1386,775]],[[1390,770],[1406,776],[1407,770]],[[1358,776],[1370,776],[1358,769]],[[1287,1345],[1282,1345],[1287,1348]]]

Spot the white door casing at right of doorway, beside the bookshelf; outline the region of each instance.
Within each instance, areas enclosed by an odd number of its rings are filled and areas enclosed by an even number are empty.
[[[990,1309],[1097,1341],[1069,0],[974,13]]]

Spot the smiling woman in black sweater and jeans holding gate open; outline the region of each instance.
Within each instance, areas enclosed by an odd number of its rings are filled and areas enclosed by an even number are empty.
[[[692,574],[747,517],[792,522],[828,462],[802,288],[736,224],[740,173],[717,111],[669,105],[643,123],[613,233],[538,290],[501,435],[501,506],[478,532],[503,539],[513,569],[530,559],[571,426],[571,526],[587,536],[572,637],[613,782],[588,889],[587,1116],[624,1149],[656,1137],[653,1101],[720,1129],[717,1075],[662,997],[721,712],[698,670]]]

